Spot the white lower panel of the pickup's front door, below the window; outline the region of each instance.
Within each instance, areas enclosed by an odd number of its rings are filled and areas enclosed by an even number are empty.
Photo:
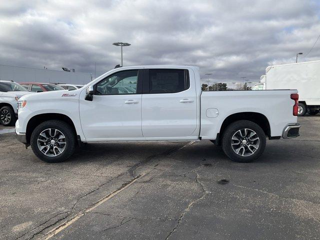
[[[124,103],[129,100],[136,103]],[[86,138],[142,137],[141,94],[80,99],[80,119]]]

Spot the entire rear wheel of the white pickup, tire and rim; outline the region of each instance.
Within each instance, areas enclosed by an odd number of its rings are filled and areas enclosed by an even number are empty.
[[[262,128],[248,120],[238,120],[227,126],[222,135],[224,153],[236,162],[251,162],[265,149],[265,134]]]

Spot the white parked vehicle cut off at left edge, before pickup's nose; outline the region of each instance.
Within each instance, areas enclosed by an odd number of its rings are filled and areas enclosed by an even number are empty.
[[[0,80],[0,123],[13,125],[17,118],[18,99],[30,92],[16,82]]]

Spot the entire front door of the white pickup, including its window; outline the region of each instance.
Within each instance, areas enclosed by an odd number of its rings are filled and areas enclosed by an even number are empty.
[[[142,71],[118,71],[94,85],[93,100],[84,100],[81,92],[79,111],[81,127],[87,139],[121,140],[141,138]],[[123,86],[130,86],[131,92]],[[116,138],[116,139],[115,139]]]

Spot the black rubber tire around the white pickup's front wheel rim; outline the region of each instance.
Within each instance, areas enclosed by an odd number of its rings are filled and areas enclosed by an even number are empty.
[[[37,145],[37,139],[39,134],[48,128],[54,128],[60,131],[64,136],[65,136],[65,148],[64,150],[56,155],[56,156],[47,156],[45,155],[42,151],[40,151],[38,145]],[[34,128],[32,134],[31,134],[31,148],[33,153],[40,158],[42,161],[45,162],[61,162],[65,161],[67,158],[69,158],[76,147],[76,134],[72,127],[67,124],[64,121],[59,121],[59,120],[49,120],[49,121],[44,121],[40,123],[37,127]]]

